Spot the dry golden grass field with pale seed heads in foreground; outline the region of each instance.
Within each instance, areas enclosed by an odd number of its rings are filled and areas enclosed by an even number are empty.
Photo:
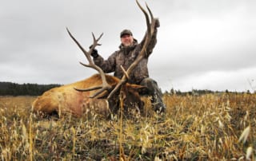
[[[164,96],[165,115],[40,118],[0,97],[1,160],[255,160],[256,95]]]

